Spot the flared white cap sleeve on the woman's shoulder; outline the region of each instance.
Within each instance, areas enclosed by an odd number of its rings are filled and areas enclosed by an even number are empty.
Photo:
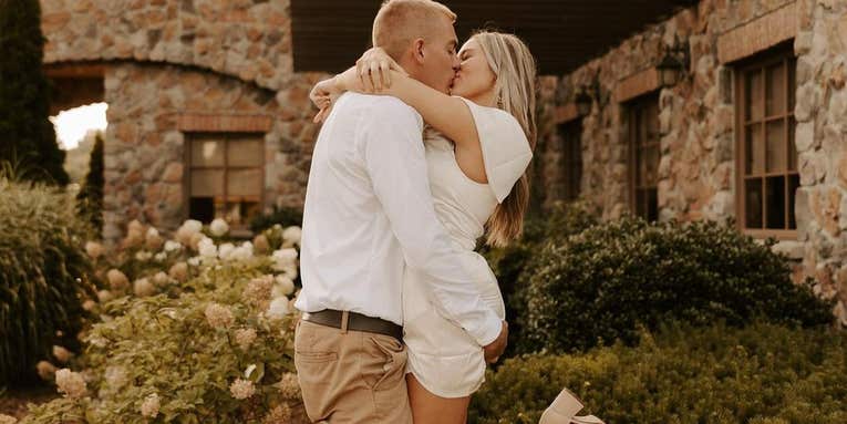
[[[496,107],[481,106],[467,99],[459,99],[467,104],[474,117],[488,186],[497,201],[503,203],[529,166],[533,158],[529,141],[515,116]]]

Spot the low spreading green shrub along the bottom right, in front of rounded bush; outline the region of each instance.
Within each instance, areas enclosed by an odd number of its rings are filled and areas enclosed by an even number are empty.
[[[845,423],[847,334],[668,325],[634,348],[508,359],[486,380],[471,423],[537,423],[562,387],[614,424]]]

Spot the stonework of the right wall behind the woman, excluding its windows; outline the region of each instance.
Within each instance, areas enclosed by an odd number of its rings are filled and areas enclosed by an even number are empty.
[[[581,193],[606,219],[630,210],[628,123],[619,100],[651,89],[639,86],[651,82],[640,75],[659,63],[675,39],[688,40],[690,73],[675,86],[657,91],[660,220],[736,217],[733,62],[793,40],[802,179],[795,207],[798,237],[776,249],[797,261],[795,280],[815,277],[823,296],[838,297],[836,313],[847,322],[847,2],[702,0],[561,76],[558,108],[595,77],[600,84],[600,101],[581,118]],[[540,184],[551,188],[545,198],[549,205],[562,174],[555,132],[547,132],[536,157],[544,168]]]

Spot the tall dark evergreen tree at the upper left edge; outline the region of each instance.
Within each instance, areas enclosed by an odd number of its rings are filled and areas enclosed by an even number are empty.
[[[65,185],[65,153],[50,116],[39,0],[0,0],[0,163],[19,176]]]

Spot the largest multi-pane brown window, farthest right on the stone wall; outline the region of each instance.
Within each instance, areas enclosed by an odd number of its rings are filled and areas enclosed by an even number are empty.
[[[792,50],[781,50],[736,70],[738,224],[755,237],[793,237],[797,229],[794,69]]]

